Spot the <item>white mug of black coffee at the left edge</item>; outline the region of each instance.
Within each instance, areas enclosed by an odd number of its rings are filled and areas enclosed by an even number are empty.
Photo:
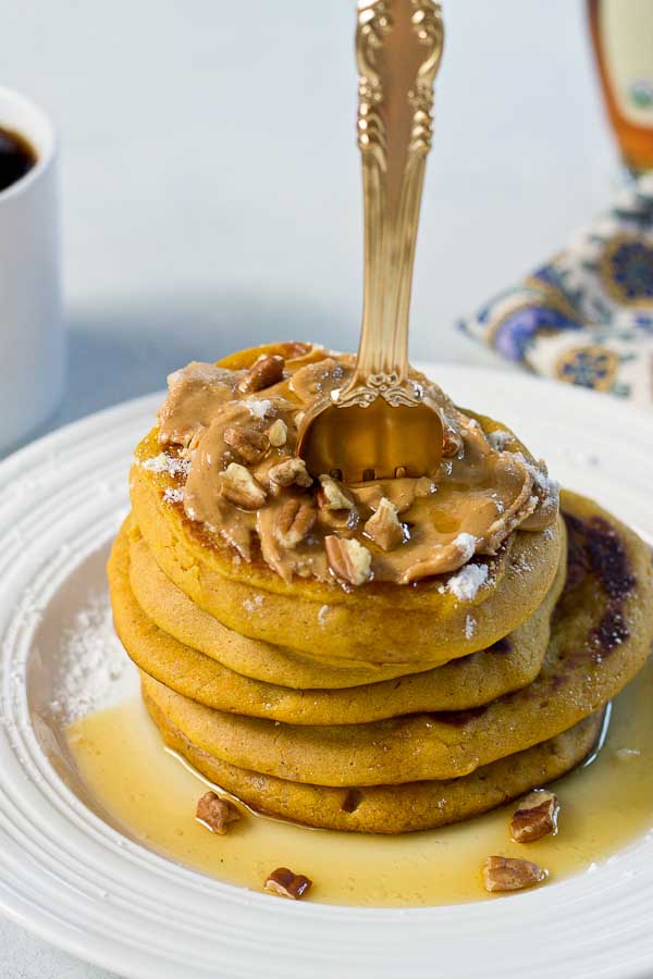
[[[36,163],[0,190],[0,453],[57,408],[64,386],[57,139],[44,112],[0,87],[0,128]]]

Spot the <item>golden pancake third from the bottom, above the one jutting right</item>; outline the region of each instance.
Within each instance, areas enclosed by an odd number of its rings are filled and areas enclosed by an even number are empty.
[[[141,540],[134,541],[132,533],[130,546],[128,528],[126,521],[115,540],[108,573],[115,629],[134,662],[165,686],[207,707],[295,724],[361,723],[423,710],[464,710],[527,685],[544,659],[551,615],[566,573],[565,561],[542,606],[493,649],[399,680],[345,690],[298,691],[243,677],[159,629],[132,591],[130,554],[143,555],[145,545]],[[136,588],[145,579],[143,570],[139,565],[132,579]],[[169,590],[178,596],[174,608],[178,616],[182,606],[181,618],[187,622],[194,606],[174,585]],[[171,625],[174,628],[174,621]],[[286,665],[291,672],[293,662]],[[319,677],[318,667],[315,672]]]

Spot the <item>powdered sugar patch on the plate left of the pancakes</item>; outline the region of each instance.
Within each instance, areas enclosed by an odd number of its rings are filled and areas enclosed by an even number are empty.
[[[62,637],[53,677],[52,714],[72,723],[134,692],[135,670],[123,649],[106,594],[79,609]]]

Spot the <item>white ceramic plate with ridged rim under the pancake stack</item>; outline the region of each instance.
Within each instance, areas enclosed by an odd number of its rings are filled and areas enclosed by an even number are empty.
[[[562,482],[653,540],[653,416],[526,376],[427,370],[459,404],[514,425]],[[653,975],[652,833],[593,873],[509,900],[379,910],[292,904],[133,843],[57,774],[48,760],[57,731],[40,722],[40,705],[66,617],[99,583],[127,507],[132,450],[159,402],[104,411],[0,466],[4,914],[133,979]]]

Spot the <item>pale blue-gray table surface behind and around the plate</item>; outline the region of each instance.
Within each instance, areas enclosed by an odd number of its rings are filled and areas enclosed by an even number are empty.
[[[609,200],[581,0],[448,0],[414,358]],[[353,0],[21,0],[0,84],[62,141],[70,382],[45,430],[279,338],[350,348],[361,289]],[[0,396],[1,399],[1,396]],[[0,977],[107,979],[0,922]],[[180,976],[180,979],[184,979]]]

